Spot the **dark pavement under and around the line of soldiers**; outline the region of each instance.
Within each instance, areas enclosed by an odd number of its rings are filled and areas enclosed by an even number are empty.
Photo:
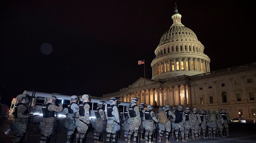
[[[5,121],[5,123],[0,124],[0,143],[11,143],[12,142],[12,131],[9,130],[10,121]],[[200,138],[200,139],[190,139],[187,143],[256,143],[256,124],[253,123],[232,123],[229,124],[230,136],[227,138]],[[61,127],[57,128],[57,140],[56,143],[66,143],[66,133],[67,130]],[[88,129],[87,143],[93,143],[93,129]],[[158,135],[159,136],[159,135]],[[31,125],[31,130],[29,132],[29,138],[27,141],[23,140],[23,143],[39,143],[40,130],[37,125]],[[52,143],[55,140],[52,138]],[[155,139],[153,140],[155,142]],[[162,139],[162,143],[166,142],[165,135]],[[169,142],[176,142],[173,138],[169,139]],[[181,143],[181,140],[176,143]],[[127,143],[124,139],[124,135],[121,133],[118,143]],[[145,140],[141,140],[141,143],[145,143]],[[158,143],[158,139],[157,139]]]

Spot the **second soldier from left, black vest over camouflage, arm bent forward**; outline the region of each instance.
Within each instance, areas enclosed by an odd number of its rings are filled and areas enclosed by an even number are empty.
[[[62,111],[62,104],[59,107],[55,105],[56,97],[49,96],[46,98],[46,103],[42,107],[43,119],[40,123],[41,138],[40,143],[47,143],[51,140],[51,134],[53,132],[53,126],[56,124],[55,112]]]

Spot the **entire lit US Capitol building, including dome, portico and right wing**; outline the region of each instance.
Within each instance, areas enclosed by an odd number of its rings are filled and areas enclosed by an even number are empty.
[[[256,120],[256,63],[210,71],[210,59],[196,34],[181,23],[177,7],[173,24],[160,39],[151,63],[152,79],[140,78],[102,98],[120,97],[154,106],[183,105],[199,109],[225,108],[230,119]]]

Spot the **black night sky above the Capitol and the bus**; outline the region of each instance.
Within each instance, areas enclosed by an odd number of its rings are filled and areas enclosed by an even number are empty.
[[[204,45],[211,71],[256,62],[249,0],[5,0],[0,2],[3,102],[10,105],[24,90],[101,97],[144,77],[144,65],[138,65],[144,58],[151,79],[150,64],[172,25],[174,3],[182,24]]]

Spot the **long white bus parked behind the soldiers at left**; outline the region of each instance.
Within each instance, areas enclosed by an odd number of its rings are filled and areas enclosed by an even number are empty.
[[[27,95],[29,102],[31,101],[32,93],[33,93],[32,91],[28,91],[28,90],[25,90],[23,92],[23,94]],[[43,92],[34,92],[34,97],[32,98],[31,110],[30,110],[30,113],[33,114],[33,118],[29,120],[29,122],[34,124],[37,124],[37,123],[39,124],[42,121],[42,118],[43,118],[42,106],[46,103],[46,98],[51,95],[56,97],[55,105],[59,106],[59,103],[61,103],[62,107],[64,108],[61,112],[57,113],[57,118],[59,119],[60,124],[64,124],[64,121],[66,119],[66,114],[68,114],[68,105],[71,103],[71,100],[70,100],[71,95],[43,93]],[[80,99],[80,103],[82,103],[83,102],[82,97],[79,97],[79,99]],[[90,105],[90,109],[89,109],[90,123],[92,123],[96,118],[94,114],[94,110],[97,109],[97,103],[99,101],[103,101],[106,103],[105,105],[103,105],[102,108],[104,109],[105,113],[107,113],[107,106],[110,105],[109,100],[90,98],[90,102],[88,102],[88,104]],[[10,114],[8,118],[9,120],[14,119],[14,115],[12,113],[14,112],[16,104],[17,104],[17,99],[13,98],[10,106]],[[130,104],[131,103],[129,102],[118,101],[118,109],[120,114],[125,113],[126,106]]]

